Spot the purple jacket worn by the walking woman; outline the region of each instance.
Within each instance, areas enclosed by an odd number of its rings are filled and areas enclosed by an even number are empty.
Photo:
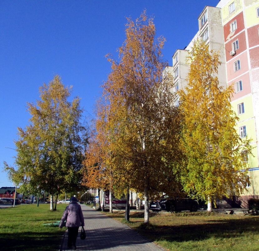
[[[81,206],[76,201],[71,201],[66,207],[60,221],[60,227],[63,226],[66,220],[66,227],[80,227],[85,226],[84,216]]]

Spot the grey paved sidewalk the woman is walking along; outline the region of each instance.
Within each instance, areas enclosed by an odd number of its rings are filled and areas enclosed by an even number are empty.
[[[126,225],[117,222],[91,207],[81,205],[85,217],[85,240],[80,239],[80,230],[76,241],[76,250],[84,251],[164,251],[148,241]],[[61,250],[67,248],[67,230],[61,244]],[[73,249],[72,249],[73,250]]]

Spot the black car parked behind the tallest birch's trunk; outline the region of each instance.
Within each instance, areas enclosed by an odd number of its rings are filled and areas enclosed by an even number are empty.
[[[199,203],[196,199],[184,198],[184,199],[162,199],[160,201],[151,201],[150,209],[152,211],[165,210],[167,212],[180,212],[190,210],[190,212],[196,212],[198,210]]]

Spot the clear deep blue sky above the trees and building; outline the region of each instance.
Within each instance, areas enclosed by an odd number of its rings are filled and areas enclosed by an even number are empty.
[[[60,75],[72,96],[81,97],[91,116],[110,64],[104,57],[125,40],[125,17],[136,19],[144,8],[154,17],[157,36],[166,43],[164,59],[172,65],[198,31],[203,8],[219,0],[0,1],[0,187],[12,186],[3,161],[13,165],[17,127],[28,124],[26,102],[39,98],[39,86]],[[9,148],[6,148],[9,147]]]

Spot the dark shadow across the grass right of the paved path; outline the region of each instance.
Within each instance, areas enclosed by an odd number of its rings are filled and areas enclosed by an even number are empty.
[[[211,223],[180,226],[141,224],[134,228],[151,241],[185,242],[214,238],[235,238],[259,231],[259,218],[212,220]]]

